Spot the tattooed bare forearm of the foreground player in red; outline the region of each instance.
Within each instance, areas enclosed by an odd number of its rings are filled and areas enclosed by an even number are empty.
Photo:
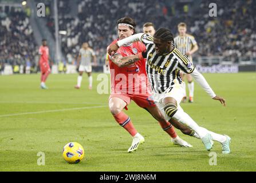
[[[114,62],[119,67],[126,67],[129,65],[132,65],[132,63],[135,63],[140,60],[139,54],[136,55],[130,55],[127,57],[122,57],[120,54],[113,55],[111,58],[111,61]]]

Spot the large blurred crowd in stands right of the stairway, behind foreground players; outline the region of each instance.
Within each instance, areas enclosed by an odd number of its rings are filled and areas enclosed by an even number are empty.
[[[219,55],[234,63],[243,57],[256,59],[256,1],[216,0],[217,17],[210,17],[208,7],[211,0],[170,5],[170,1],[104,1],[78,2],[78,16],[68,15],[70,1],[60,0],[60,29],[68,34],[62,37],[62,51],[70,57],[84,41],[88,41],[101,63],[104,63],[105,49],[117,38],[117,19],[129,16],[135,18],[137,31],[142,31],[145,22],[153,22],[157,27],[168,27],[178,34],[179,22],[186,22],[188,33],[194,35],[199,45],[196,55]],[[49,22],[53,19],[49,19]],[[51,27],[54,33],[54,27]]]

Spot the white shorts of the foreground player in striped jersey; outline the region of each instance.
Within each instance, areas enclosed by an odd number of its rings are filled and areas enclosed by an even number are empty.
[[[171,118],[169,116],[166,115],[166,112],[164,112],[164,98],[167,97],[172,97],[175,98],[175,100],[177,101],[177,108],[179,110],[183,110],[182,107],[180,106],[180,102],[182,101],[182,98],[184,97],[183,94],[183,87],[182,85],[179,83],[178,80],[174,80],[174,85],[172,85],[170,87],[170,89],[167,89],[165,93],[161,93],[161,94],[157,94],[154,93],[153,94],[153,100],[157,106],[157,108],[160,110],[160,112],[163,114],[163,116],[166,117],[166,120],[169,121]]]

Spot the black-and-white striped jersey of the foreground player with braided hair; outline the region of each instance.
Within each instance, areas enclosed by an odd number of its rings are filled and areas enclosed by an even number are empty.
[[[174,85],[174,79],[178,79],[179,83],[182,83],[180,70],[187,74],[194,71],[193,63],[176,47],[170,53],[157,55],[153,37],[143,34],[140,39],[147,48],[146,71],[153,92],[164,93]]]

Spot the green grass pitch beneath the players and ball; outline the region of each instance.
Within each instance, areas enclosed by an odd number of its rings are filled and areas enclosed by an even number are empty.
[[[113,119],[108,94],[88,90],[84,74],[80,90],[76,74],[50,75],[48,90],[41,90],[40,74],[0,76],[0,171],[255,171],[256,73],[203,74],[227,106],[195,85],[194,104],[182,104],[199,125],[232,138],[231,154],[222,154],[215,142],[217,165],[196,138],[179,136],[193,148],[171,144],[159,124],[133,102],[127,114],[145,143],[127,153],[132,138]],[[77,109],[76,109],[77,108]],[[70,141],[84,146],[85,158],[68,164],[62,148]],[[45,165],[38,166],[38,152]]]

